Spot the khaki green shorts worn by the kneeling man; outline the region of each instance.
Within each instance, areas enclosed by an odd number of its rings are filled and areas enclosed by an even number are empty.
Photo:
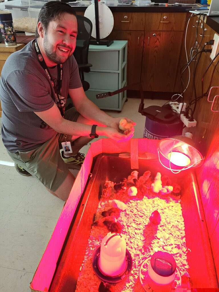
[[[69,121],[77,121],[79,113],[72,107],[65,112],[64,117]],[[65,136],[57,133],[36,149],[8,152],[8,154],[13,161],[40,180],[49,190],[55,192],[62,185],[69,171],[60,155],[61,142],[72,139],[72,135],[67,135],[66,140]]]

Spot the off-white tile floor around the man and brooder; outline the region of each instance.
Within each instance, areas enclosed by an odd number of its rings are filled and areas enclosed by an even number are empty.
[[[134,138],[143,137],[145,124],[145,117],[138,113],[139,103],[140,99],[129,98],[121,113],[107,111],[113,117],[133,119],[137,123]],[[145,107],[164,103],[147,99]],[[86,154],[88,147],[81,152]],[[64,202],[32,176],[24,177],[13,166],[4,165],[8,163],[13,161],[0,139],[0,292],[27,292]]]

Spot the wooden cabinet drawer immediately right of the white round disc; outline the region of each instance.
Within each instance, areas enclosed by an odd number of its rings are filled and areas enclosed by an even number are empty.
[[[144,30],[145,13],[115,12],[114,30]]]

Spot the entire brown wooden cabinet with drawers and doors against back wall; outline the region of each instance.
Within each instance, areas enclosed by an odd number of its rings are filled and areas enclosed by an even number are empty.
[[[128,41],[127,84],[173,92],[186,13],[113,13],[108,39]],[[132,86],[138,90],[138,86]]]

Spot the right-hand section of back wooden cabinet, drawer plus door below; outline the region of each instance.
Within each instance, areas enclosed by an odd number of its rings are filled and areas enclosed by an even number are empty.
[[[145,14],[141,70],[143,90],[173,92],[186,13]]]

